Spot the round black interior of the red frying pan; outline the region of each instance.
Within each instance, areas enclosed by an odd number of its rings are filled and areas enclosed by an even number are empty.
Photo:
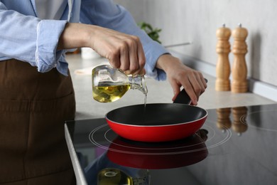
[[[126,125],[173,125],[193,122],[207,115],[200,107],[178,103],[156,103],[131,105],[108,112],[106,117],[112,122]]]

